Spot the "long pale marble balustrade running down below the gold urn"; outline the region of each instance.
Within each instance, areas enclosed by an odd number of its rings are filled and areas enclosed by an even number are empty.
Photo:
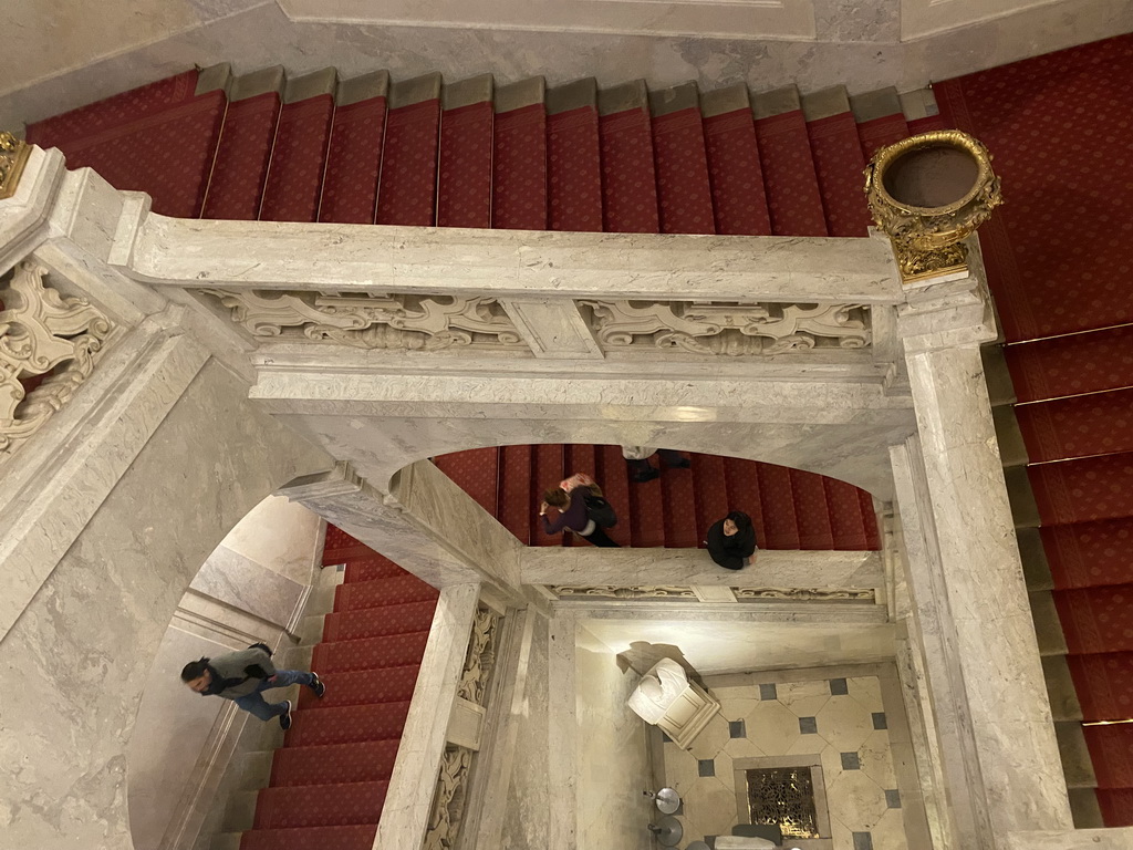
[[[955,825],[961,845],[1005,848],[1071,815],[980,362],[996,332],[979,270],[911,287],[898,331],[919,430],[893,454],[898,509]]]

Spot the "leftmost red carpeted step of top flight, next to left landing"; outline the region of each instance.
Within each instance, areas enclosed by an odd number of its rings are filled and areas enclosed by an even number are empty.
[[[255,221],[279,122],[279,92],[228,104],[203,219]]]

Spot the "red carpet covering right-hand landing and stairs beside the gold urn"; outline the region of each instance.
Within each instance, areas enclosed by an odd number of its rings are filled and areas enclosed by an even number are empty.
[[[934,86],[995,156],[980,231],[1087,721],[1133,717],[1133,36]],[[1119,164],[1118,164],[1119,163]],[[1084,728],[1106,825],[1133,825],[1133,724]]]

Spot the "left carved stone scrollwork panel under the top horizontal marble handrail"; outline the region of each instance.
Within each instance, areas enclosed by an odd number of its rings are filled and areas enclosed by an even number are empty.
[[[434,351],[460,346],[528,350],[495,298],[204,289],[254,337],[357,348]],[[287,329],[296,329],[293,334]]]

